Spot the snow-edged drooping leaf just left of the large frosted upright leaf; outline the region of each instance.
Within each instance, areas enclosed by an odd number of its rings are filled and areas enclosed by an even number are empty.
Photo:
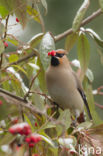
[[[28,44],[30,45],[30,47],[35,48],[40,43],[42,37],[43,37],[43,33],[39,33],[33,36],[31,40],[28,42]]]

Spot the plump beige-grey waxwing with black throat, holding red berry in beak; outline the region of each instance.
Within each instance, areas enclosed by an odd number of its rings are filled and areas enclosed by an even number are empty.
[[[84,105],[89,119],[92,115],[88,106],[82,83],[72,70],[67,51],[64,49],[48,52],[51,62],[46,70],[46,85],[49,95],[54,103],[61,109],[69,109],[79,123],[85,122]]]

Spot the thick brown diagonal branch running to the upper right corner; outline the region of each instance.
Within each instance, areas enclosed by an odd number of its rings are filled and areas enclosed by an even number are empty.
[[[90,15],[89,17],[87,17],[86,19],[84,19],[82,21],[80,27],[81,26],[84,26],[84,25],[86,25],[88,23],[90,23],[93,19],[95,19],[100,14],[102,14],[102,11],[101,11],[101,9],[98,9],[97,11],[95,11],[94,13],[92,13],[92,15]],[[64,37],[66,37],[67,35],[70,35],[72,33],[73,33],[73,30],[72,30],[72,28],[70,28],[70,29],[66,30],[65,32],[63,32],[63,33],[55,36],[55,41],[57,42],[57,41],[63,39]]]

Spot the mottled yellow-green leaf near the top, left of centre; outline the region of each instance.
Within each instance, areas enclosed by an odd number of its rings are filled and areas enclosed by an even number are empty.
[[[31,6],[27,6],[27,13],[30,16],[32,16],[36,22],[40,23],[40,17],[39,17],[39,13],[37,12],[37,10],[35,10]]]

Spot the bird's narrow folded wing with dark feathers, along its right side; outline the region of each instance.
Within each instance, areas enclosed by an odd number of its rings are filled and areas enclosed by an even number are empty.
[[[73,76],[74,76],[74,78],[76,80],[77,90],[79,91],[79,93],[80,93],[80,95],[81,95],[81,97],[82,97],[82,99],[84,101],[84,104],[86,106],[86,109],[87,109],[87,112],[88,112],[88,116],[89,116],[90,120],[92,120],[92,115],[90,113],[90,109],[89,109],[89,106],[88,106],[87,98],[86,98],[86,95],[85,95],[85,93],[83,91],[82,84],[81,84],[80,80],[78,79],[78,77],[77,77],[75,72],[73,72]]]

